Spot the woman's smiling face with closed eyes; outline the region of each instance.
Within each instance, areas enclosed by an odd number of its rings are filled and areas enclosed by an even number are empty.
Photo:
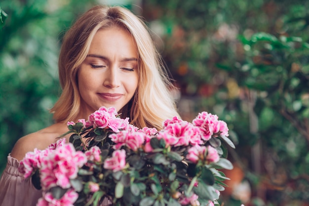
[[[99,30],[78,70],[83,115],[100,106],[119,111],[133,97],[138,85],[137,48],[130,33],[111,27]]]

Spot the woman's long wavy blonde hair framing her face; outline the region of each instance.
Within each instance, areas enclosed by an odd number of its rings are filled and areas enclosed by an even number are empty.
[[[136,127],[162,128],[165,119],[179,116],[169,92],[173,88],[145,23],[120,6],[95,6],[84,13],[65,34],[59,56],[59,79],[63,92],[51,109],[56,122],[76,120],[80,110],[77,70],[88,54],[93,36],[112,26],[127,30],[139,55],[138,88],[122,109]]]

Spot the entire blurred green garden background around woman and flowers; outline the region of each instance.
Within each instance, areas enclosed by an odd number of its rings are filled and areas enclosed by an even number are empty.
[[[183,119],[217,114],[236,144],[222,206],[309,206],[309,1],[1,0],[0,172],[18,138],[52,124],[61,37],[95,4],[150,27]]]

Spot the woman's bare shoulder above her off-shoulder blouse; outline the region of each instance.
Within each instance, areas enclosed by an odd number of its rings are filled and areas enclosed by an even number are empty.
[[[17,160],[22,160],[25,154],[37,149],[46,149],[48,145],[58,140],[57,137],[64,134],[67,131],[66,126],[60,123],[53,124],[38,132],[31,133],[18,139],[15,143],[11,156]]]

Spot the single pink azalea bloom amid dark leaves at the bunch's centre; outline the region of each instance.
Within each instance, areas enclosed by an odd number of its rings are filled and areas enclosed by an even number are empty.
[[[111,158],[107,158],[104,161],[104,166],[107,170],[113,170],[113,172],[120,171],[126,167],[125,162],[125,150],[115,150]]]

